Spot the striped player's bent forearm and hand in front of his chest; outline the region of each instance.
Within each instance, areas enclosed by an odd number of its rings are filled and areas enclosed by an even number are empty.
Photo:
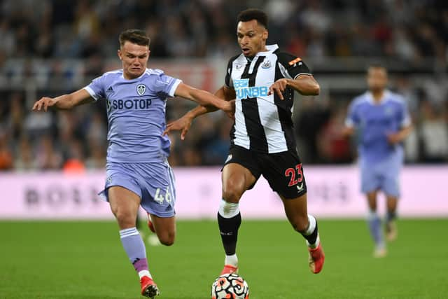
[[[283,99],[283,92],[288,87],[293,88],[299,92],[300,95],[318,95],[321,90],[313,76],[302,74],[295,79],[281,78],[275,81],[274,84],[269,87],[267,95],[272,95],[276,92],[280,99]]]

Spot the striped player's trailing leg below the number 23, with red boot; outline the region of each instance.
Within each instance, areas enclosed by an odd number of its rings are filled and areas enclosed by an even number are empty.
[[[307,239],[309,269],[314,274],[321,272],[325,254],[318,235],[316,218],[307,212],[307,194],[305,193],[294,199],[286,199],[281,195],[280,197],[283,200],[289,222],[297,232],[300,232]]]

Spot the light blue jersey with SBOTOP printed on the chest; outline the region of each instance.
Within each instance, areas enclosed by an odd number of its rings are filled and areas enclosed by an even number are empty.
[[[127,80],[123,70],[109,71],[85,87],[95,100],[106,99],[109,120],[108,162],[161,162],[169,155],[166,127],[167,97],[174,97],[179,79],[160,69],[146,69]]]

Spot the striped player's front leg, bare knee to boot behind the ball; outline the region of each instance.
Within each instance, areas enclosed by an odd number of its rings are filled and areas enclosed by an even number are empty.
[[[241,225],[239,200],[244,191],[255,183],[253,174],[236,163],[223,168],[223,200],[218,210],[218,225],[225,251],[224,268],[221,274],[238,272],[237,238]]]

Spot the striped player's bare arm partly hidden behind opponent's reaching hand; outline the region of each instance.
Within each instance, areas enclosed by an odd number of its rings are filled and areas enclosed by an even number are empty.
[[[235,89],[229,88],[223,85],[220,89],[215,92],[216,97],[225,99],[226,101],[232,101],[235,99]],[[163,134],[169,134],[172,131],[181,131],[181,140],[185,139],[185,135],[188,130],[190,130],[193,120],[202,114],[214,112],[218,110],[215,106],[197,106],[195,109],[188,111],[184,116],[178,120],[174,120],[172,123],[167,125],[167,129]],[[234,114],[226,112],[230,118],[234,118]]]

